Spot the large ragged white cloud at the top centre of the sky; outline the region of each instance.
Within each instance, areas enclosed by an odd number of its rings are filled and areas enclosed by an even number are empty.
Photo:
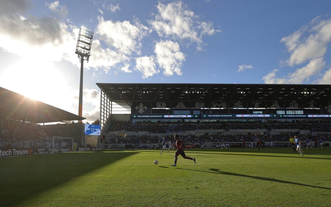
[[[201,22],[200,18],[182,2],[173,2],[167,5],[159,2],[157,9],[158,14],[149,23],[159,36],[196,42],[197,51],[202,50],[202,37],[204,35],[213,35],[220,31],[213,28],[212,22]]]

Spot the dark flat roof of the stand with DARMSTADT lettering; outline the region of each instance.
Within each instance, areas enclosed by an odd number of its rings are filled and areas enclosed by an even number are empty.
[[[331,85],[96,83],[113,102],[125,101],[331,101]]]

